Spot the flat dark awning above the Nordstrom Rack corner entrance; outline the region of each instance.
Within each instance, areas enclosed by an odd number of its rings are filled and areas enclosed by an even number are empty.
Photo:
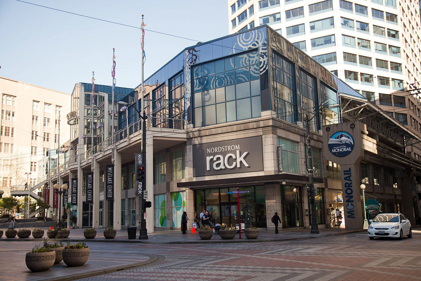
[[[288,184],[308,184],[309,177],[288,173],[280,173],[276,175],[255,176],[255,177],[232,177],[221,178],[208,181],[185,181],[177,183],[177,187],[202,187],[202,186],[220,186],[222,184],[256,184],[264,182],[280,182],[285,181]],[[322,184],[323,178],[314,177],[315,184]]]

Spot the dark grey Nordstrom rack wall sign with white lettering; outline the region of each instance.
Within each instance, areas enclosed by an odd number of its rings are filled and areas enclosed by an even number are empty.
[[[193,145],[194,176],[261,170],[263,170],[261,136]]]

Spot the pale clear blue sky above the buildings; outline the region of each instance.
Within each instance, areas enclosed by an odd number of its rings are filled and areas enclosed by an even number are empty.
[[[26,0],[76,14],[193,39],[145,31],[145,79],[187,46],[228,35],[226,0]],[[141,82],[141,30],[0,0],[0,76],[71,93],[75,83],[116,86]]]

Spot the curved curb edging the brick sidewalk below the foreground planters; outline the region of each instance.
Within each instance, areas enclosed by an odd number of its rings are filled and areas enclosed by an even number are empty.
[[[95,271],[89,271],[89,272],[85,272],[85,273],[60,276],[60,277],[56,277],[56,278],[47,278],[47,279],[42,279],[42,280],[48,280],[48,281],[53,281],[53,280],[61,280],[61,281],[76,280],[76,279],[82,279],[82,278],[87,278],[87,277],[91,277],[91,276],[98,276],[98,275],[103,275],[103,274],[107,274],[107,273],[112,273],[112,272],[116,272],[116,271],[120,271],[120,270],[127,270],[127,269],[131,269],[131,268],[134,268],[134,267],[142,267],[142,266],[145,266],[145,265],[150,265],[152,263],[160,262],[160,261],[165,260],[165,257],[159,256],[159,255],[152,255],[152,254],[146,255],[145,254],[144,256],[149,257],[149,259],[146,262],[133,263],[131,265],[123,265],[123,266],[118,266],[118,267],[111,267],[111,268],[102,269],[102,270],[95,270]]]

